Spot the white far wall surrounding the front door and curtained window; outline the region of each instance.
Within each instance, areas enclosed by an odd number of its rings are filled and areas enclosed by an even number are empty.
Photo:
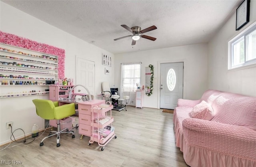
[[[121,63],[142,62],[141,84],[145,85],[145,67],[154,66],[154,89],[144,96],[144,107],[158,108],[160,94],[160,62],[184,61],[184,98],[199,99],[207,89],[207,44],[194,44],[157,50],[115,55],[115,84],[120,89]],[[119,90],[118,89],[118,90]]]

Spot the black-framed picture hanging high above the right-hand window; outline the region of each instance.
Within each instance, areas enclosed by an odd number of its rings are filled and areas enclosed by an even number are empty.
[[[244,0],[236,9],[236,31],[240,30],[249,22],[250,0]]]

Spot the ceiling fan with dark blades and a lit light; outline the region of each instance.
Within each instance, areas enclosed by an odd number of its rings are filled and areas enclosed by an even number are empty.
[[[120,39],[123,39],[123,38],[127,38],[127,37],[130,37],[130,36],[132,37],[132,45],[135,45],[136,41],[139,40],[140,37],[141,38],[146,38],[146,39],[152,40],[152,41],[156,40],[156,38],[151,37],[151,36],[140,35],[140,34],[143,34],[145,32],[156,30],[157,29],[156,26],[151,26],[151,27],[148,27],[148,28],[146,28],[144,30],[141,30],[141,28],[139,26],[135,26],[135,27],[132,27],[132,28],[130,28],[130,27],[126,26],[126,25],[121,25],[121,26],[123,28],[125,28],[126,30],[130,31],[132,33],[132,35],[123,36],[121,38],[116,38],[116,39],[114,39],[114,41],[120,40]]]

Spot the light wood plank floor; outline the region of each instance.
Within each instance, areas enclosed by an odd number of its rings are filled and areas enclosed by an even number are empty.
[[[22,165],[0,166],[188,167],[182,152],[175,146],[172,113],[128,106],[127,111],[112,110],[112,115],[117,138],[113,138],[104,151],[96,142],[87,145],[90,137],[84,136],[81,140],[78,129],[74,129],[74,139],[70,134],[61,134],[60,147],[56,147],[55,136],[44,140],[44,146],[40,147],[41,139],[50,131],[47,129],[42,137],[30,144],[0,152],[1,161],[22,161]]]

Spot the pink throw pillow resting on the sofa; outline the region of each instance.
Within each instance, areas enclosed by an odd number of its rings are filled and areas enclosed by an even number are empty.
[[[201,101],[201,103],[197,104],[189,113],[190,117],[204,119],[210,121],[213,117],[213,109],[212,106],[206,101]]]

